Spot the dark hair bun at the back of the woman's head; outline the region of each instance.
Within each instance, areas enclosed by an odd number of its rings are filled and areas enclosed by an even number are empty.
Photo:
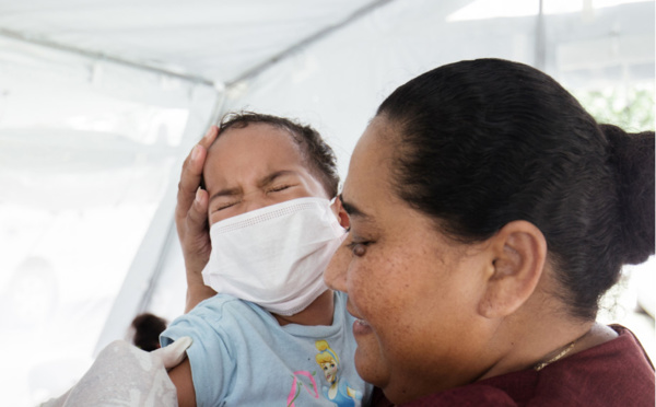
[[[612,125],[599,127],[609,140],[610,162],[618,174],[623,263],[640,264],[654,254],[654,131],[626,133]]]

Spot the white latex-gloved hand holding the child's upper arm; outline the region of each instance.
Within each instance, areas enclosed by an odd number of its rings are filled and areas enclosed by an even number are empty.
[[[183,337],[147,352],[116,340],[101,351],[78,384],[42,407],[177,407],[176,389],[166,370],[185,360],[190,345],[191,338]]]

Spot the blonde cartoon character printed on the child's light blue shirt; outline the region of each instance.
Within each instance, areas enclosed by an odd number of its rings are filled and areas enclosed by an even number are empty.
[[[326,386],[321,387],[321,394],[328,400],[339,407],[358,407],[362,399],[362,393],[349,386],[345,380],[339,375],[339,356],[330,348],[328,341],[317,340],[315,342],[319,353],[316,356],[317,364],[324,372]]]

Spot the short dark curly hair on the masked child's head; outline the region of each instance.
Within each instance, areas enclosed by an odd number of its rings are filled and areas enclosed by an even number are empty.
[[[339,186],[337,160],[332,149],[317,130],[284,117],[239,112],[223,116],[219,126],[219,137],[229,128],[244,128],[250,124],[266,124],[289,131],[294,142],[301,148],[303,159],[311,173],[318,178],[329,197],[337,196]]]

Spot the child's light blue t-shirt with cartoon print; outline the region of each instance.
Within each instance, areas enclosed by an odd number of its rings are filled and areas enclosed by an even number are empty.
[[[336,293],[331,326],[280,326],[258,305],[216,294],[160,340],[194,339],[187,356],[198,406],[367,406],[373,387],[355,371],[345,300]]]

